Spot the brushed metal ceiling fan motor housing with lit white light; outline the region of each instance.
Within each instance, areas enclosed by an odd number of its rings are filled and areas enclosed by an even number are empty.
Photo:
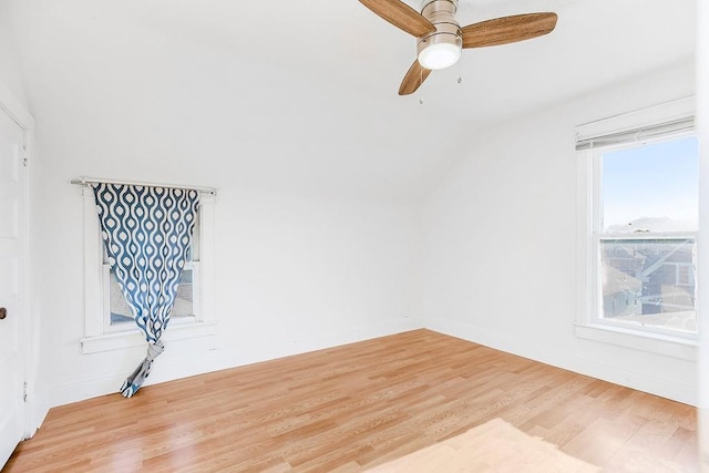
[[[461,55],[463,34],[455,21],[458,0],[423,0],[421,14],[435,27],[433,33],[419,38],[419,62],[427,69],[445,69]]]

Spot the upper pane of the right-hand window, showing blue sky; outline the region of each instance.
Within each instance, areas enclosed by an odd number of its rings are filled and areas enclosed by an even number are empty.
[[[693,136],[604,153],[603,232],[696,232],[697,176]]]

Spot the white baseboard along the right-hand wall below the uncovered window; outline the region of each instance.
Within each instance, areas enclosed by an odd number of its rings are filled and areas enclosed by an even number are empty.
[[[660,376],[641,373],[613,366],[598,360],[584,358],[549,347],[544,347],[511,338],[508,335],[479,327],[472,323],[454,320],[428,318],[424,326],[441,333],[462,338],[474,343],[505,351],[507,353],[528,358],[553,367],[589,376],[615,384],[637,389],[662,398],[671,399],[690,405],[697,405],[697,384],[681,383]]]

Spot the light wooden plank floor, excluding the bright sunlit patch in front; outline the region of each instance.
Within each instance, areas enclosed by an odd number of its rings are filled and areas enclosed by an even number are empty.
[[[3,472],[362,471],[495,418],[605,471],[698,467],[695,408],[415,330],[54,408]]]

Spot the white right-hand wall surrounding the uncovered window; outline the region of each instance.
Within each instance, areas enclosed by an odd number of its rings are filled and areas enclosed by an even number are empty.
[[[689,61],[466,136],[424,208],[425,326],[695,403],[695,361],[574,333],[574,126],[693,90]]]

